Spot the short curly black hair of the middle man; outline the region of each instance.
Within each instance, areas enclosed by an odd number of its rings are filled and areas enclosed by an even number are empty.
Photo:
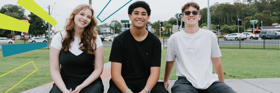
[[[135,8],[139,8],[139,7],[146,9],[148,16],[151,15],[151,8],[150,8],[149,4],[146,3],[145,1],[136,1],[132,4],[130,4],[130,6],[128,7],[128,14],[132,15],[133,10]]]

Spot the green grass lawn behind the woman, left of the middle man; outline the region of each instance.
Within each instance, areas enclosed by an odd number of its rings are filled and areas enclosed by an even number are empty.
[[[110,51],[111,47],[104,47],[104,63],[109,62]],[[32,63],[29,63],[21,68],[18,67],[30,61],[34,62],[38,70],[24,79],[27,75],[36,70],[36,68]],[[0,75],[3,75],[15,68],[18,69],[0,77],[0,93],[6,92],[22,79],[24,80],[11,89],[9,93],[19,93],[53,81],[50,75],[49,49],[37,49],[5,58],[3,58],[2,51],[0,51]]]

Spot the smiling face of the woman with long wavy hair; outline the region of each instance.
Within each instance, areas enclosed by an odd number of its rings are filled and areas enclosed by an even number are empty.
[[[84,29],[91,21],[92,11],[90,9],[83,9],[74,16],[74,28]]]

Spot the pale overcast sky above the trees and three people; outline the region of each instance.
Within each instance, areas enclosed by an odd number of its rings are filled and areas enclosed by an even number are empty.
[[[4,4],[17,4],[18,0],[1,0],[0,7],[4,6]],[[45,11],[48,12],[48,5],[50,5],[51,16],[55,18],[58,22],[56,26],[56,30],[64,30],[65,20],[69,17],[70,13],[73,9],[79,4],[88,4],[88,0],[34,0],[39,6],[41,6]],[[106,6],[106,4],[110,0],[92,0],[92,7],[95,11],[95,17],[99,15],[102,9]],[[108,6],[103,10],[99,17],[101,20],[106,19],[109,15],[114,13],[116,10],[121,8],[124,4],[129,2],[130,0],[111,0]],[[121,20],[129,20],[127,9],[128,6],[137,0],[130,1],[123,8],[118,10],[114,15],[110,16],[105,23],[110,23],[113,19],[117,21]],[[167,21],[171,17],[175,17],[176,13],[181,13],[181,7],[187,2],[196,2],[199,4],[200,9],[207,7],[207,0],[143,0],[150,5],[151,22],[156,22],[157,20]],[[209,0],[209,6],[214,3],[225,3],[230,2],[233,4],[234,0]],[[54,4],[55,3],[55,4]],[[52,10],[53,9],[53,10]],[[25,15],[29,15],[30,11],[25,10]],[[56,16],[56,17],[55,17]],[[96,18],[97,19],[97,18]],[[97,19],[98,20],[98,19]],[[103,24],[104,22],[100,22],[98,20],[98,25]],[[54,30],[54,27],[52,28]]]

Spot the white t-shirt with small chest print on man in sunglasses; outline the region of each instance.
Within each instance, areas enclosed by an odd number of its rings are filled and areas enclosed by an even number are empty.
[[[197,89],[207,89],[219,80],[212,73],[211,58],[220,57],[216,35],[200,29],[194,34],[184,30],[172,34],[167,45],[166,61],[176,58],[176,76],[186,77]]]

